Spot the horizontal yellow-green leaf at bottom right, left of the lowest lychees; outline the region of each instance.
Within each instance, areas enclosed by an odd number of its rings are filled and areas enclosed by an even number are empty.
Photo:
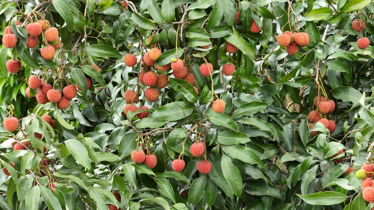
[[[348,197],[338,192],[326,191],[326,192],[317,192],[315,194],[309,194],[308,196],[303,196],[296,194],[298,197],[303,199],[306,203],[312,205],[335,205],[340,204],[345,201]]]

